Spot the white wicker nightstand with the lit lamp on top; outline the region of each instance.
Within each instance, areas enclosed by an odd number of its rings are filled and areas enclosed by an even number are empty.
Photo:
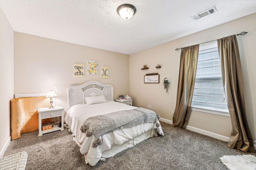
[[[42,131],[42,119],[47,119],[51,117],[59,117],[61,116],[61,126],[54,127],[49,130]],[[64,107],[56,106],[53,109],[49,109],[49,107],[43,107],[38,109],[38,130],[39,135],[42,136],[44,133],[54,132],[54,131],[63,131],[64,130]]]

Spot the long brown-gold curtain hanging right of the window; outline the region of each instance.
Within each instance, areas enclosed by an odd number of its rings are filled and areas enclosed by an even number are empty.
[[[218,39],[217,42],[222,82],[232,124],[228,147],[240,149],[244,152],[254,151],[246,118],[244,84],[236,35]]]

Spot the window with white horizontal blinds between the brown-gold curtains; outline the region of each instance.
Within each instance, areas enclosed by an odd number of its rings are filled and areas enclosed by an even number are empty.
[[[229,116],[217,41],[199,46],[192,107],[193,110],[204,109],[204,112]]]

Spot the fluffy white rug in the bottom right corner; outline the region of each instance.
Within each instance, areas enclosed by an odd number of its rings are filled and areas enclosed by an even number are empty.
[[[230,170],[256,170],[256,156],[251,154],[224,155],[220,160]]]

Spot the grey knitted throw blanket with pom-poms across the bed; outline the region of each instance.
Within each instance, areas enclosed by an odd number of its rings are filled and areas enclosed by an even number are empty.
[[[132,110],[122,110],[106,115],[89,117],[82,125],[81,131],[86,133],[87,137],[90,137],[92,134],[95,136],[96,141],[92,144],[92,147],[95,148],[102,144],[100,137],[106,133],[134,127],[143,123],[156,123],[156,127],[159,127],[159,118],[160,116],[156,115],[154,111],[138,107]]]

